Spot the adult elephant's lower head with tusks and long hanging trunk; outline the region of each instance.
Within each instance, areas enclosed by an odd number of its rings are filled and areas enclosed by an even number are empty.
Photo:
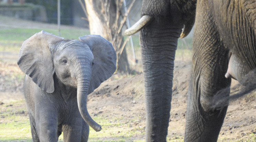
[[[175,50],[195,20],[193,0],[143,0],[139,26],[146,93],[146,140],[166,141],[168,132]],[[143,25],[140,24],[143,23]],[[126,34],[137,32],[131,27]]]

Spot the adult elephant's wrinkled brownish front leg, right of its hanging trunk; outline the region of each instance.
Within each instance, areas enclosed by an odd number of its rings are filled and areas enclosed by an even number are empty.
[[[216,142],[227,107],[213,107],[214,98],[230,93],[225,78],[228,50],[223,47],[207,3],[198,1],[193,39],[193,65],[188,93],[185,142]]]

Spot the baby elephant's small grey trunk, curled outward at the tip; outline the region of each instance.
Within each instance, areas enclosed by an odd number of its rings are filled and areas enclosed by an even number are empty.
[[[90,65],[84,65],[85,67],[90,67]],[[82,66],[83,67],[83,66]],[[82,68],[83,69],[83,68]],[[101,126],[96,123],[89,115],[87,111],[87,95],[90,85],[90,74],[91,69],[85,69],[78,73],[77,75],[77,103],[78,109],[80,111],[81,116],[85,120],[85,122],[92,127],[95,131],[100,131],[102,128]]]

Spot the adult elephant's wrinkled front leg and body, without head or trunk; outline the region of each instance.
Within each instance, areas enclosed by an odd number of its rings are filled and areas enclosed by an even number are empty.
[[[256,68],[255,3],[197,2],[185,141],[217,141],[227,106],[212,107],[212,101],[230,87],[232,76],[243,85],[255,84],[255,73],[245,78]]]

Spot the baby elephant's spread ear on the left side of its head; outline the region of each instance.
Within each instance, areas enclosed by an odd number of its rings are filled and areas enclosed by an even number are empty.
[[[22,44],[19,59],[20,69],[47,93],[54,92],[54,66],[49,46],[64,38],[41,31]]]

